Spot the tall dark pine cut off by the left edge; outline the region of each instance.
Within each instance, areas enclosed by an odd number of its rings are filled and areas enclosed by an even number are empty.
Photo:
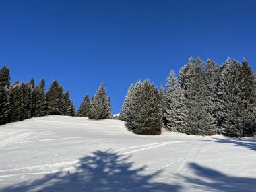
[[[10,71],[6,66],[0,70],[0,125],[9,122],[9,115],[11,113],[10,106]]]

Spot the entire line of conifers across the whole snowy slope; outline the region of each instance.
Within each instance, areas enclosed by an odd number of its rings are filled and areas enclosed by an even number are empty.
[[[45,92],[44,79],[35,86],[10,84],[9,69],[0,71],[0,125],[44,115],[69,115],[90,119],[112,118],[104,84],[92,98],[84,97],[75,113],[69,92],[57,80]],[[189,58],[179,75],[170,71],[160,90],[149,79],[131,84],[119,119],[129,131],[158,135],[161,129],[187,135],[222,134],[245,137],[256,132],[256,75],[248,61],[228,58],[222,65]]]

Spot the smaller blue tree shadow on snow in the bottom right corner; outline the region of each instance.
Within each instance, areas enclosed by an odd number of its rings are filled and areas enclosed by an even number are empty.
[[[253,192],[256,190],[256,178],[228,176],[217,170],[195,163],[190,163],[189,168],[193,170],[195,177],[180,177],[203,191]]]

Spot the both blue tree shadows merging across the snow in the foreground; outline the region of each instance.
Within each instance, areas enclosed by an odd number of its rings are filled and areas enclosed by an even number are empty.
[[[162,170],[142,174],[146,166],[134,168],[133,162],[128,162],[129,158],[110,150],[96,151],[92,156],[81,158],[69,174],[67,170],[61,170],[1,191],[184,191],[182,184],[154,182]],[[203,191],[255,191],[255,178],[228,176],[195,163],[190,163],[189,168],[194,173],[193,177],[176,175],[187,187]]]

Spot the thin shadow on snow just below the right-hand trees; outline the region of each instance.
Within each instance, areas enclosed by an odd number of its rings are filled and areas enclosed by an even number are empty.
[[[239,139],[215,139],[214,142],[217,143],[232,143],[234,146],[241,146],[249,148],[250,150],[256,151],[256,139],[252,138],[239,138]]]

